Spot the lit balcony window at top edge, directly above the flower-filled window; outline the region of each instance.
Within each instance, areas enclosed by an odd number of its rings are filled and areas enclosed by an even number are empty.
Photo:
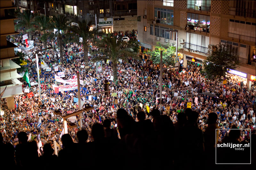
[[[203,0],[188,0],[187,9],[199,10],[199,11],[210,11],[211,1]]]

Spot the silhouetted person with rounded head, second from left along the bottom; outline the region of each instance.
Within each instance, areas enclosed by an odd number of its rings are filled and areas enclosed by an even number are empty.
[[[17,137],[19,139],[19,144],[15,148],[15,159],[17,166],[27,167],[28,160],[37,163],[38,152],[36,142],[28,142],[28,136],[26,132],[18,133]]]

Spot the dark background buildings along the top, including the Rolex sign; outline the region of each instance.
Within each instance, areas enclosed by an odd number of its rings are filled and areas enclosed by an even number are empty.
[[[16,1],[20,10],[30,9],[49,17],[65,15],[74,23],[92,21],[93,28],[113,31],[137,30],[137,1]]]

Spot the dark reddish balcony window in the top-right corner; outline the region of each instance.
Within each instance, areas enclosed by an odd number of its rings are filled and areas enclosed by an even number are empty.
[[[255,1],[230,1],[230,15],[255,18]]]

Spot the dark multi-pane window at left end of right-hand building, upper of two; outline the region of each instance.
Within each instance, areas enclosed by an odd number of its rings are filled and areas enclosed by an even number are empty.
[[[155,20],[157,23],[173,25],[173,10],[155,8]]]

